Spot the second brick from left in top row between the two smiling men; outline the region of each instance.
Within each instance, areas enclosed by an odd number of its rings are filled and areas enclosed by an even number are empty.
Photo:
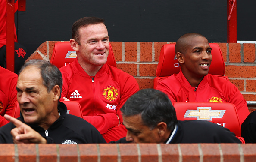
[[[137,42],[125,42],[125,61],[137,62]]]

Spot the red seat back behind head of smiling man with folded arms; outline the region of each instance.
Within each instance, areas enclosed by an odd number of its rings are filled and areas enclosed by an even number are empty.
[[[56,42],[53,48],[53,54],[50,63],[61,68],[69,63],[72,63],[76,58],[76,52],[71,48],[69,42]],[[116,60],[113,54],[112,47],[109,43],[109,56],[107,64],[116,67]]]

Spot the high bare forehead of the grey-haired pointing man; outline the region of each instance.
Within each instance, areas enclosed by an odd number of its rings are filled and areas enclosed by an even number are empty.
[[[27,66],[18,76],[17,87],[43,84],[40,69]]]

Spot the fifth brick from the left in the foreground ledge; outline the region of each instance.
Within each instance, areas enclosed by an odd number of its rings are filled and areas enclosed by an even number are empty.
[[[81,162],[97,162],[98,150],[96,144],[79,144]]]

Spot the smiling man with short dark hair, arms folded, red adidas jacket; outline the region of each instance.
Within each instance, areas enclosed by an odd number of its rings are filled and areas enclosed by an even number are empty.
[[[134,77],[106,64],[109,36],[103,22],[101,18],[85,17],[73,24],[70,45],[77,58],[60,68],[61,99],[78,101],[84,119],[110,142],[125,137],[120,108],[139,86]]]

